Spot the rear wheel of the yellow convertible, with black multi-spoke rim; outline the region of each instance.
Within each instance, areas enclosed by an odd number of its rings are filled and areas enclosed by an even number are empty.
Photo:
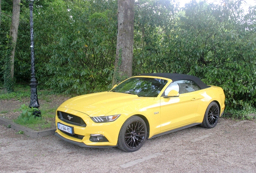
[[[211,129],[217,125],[218,120],[219,120],[219,106],[217,105],[216,102],[213,101],[209,104],[209,106],[205,111],[204,119],[201,126],[207,129]]]

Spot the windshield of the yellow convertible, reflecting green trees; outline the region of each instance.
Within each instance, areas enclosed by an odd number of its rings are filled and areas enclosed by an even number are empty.
[[[159,78],[129,78],[111,91],[138,95],[138,97],[157,97],[167,82]]]

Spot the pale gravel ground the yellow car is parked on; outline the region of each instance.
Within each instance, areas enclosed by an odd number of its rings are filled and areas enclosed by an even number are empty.
[[[256,122],[221,118],[213,129],[149,139],[133,153],[78,147],[55,136],[32,139],[1,125],[0,172],[255,173]]]

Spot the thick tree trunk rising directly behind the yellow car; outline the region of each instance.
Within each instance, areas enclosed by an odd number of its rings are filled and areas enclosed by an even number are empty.
[[[118,34],[112,86],[132,76],[134,0],[118,0]]]

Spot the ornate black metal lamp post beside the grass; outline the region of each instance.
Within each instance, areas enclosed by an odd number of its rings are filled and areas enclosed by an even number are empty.
[[[30,10],[30,41],[31,41],[31,94],[30,94],[30,104],[29,107],[39,108],[40,105],[37,99],[37,80],[35,79],[35,56],[34,56],[34,34],[33,34],[33,1],[29,1],[29,10]],[[33,115],[41,116],[41,111],[35,111]]]

